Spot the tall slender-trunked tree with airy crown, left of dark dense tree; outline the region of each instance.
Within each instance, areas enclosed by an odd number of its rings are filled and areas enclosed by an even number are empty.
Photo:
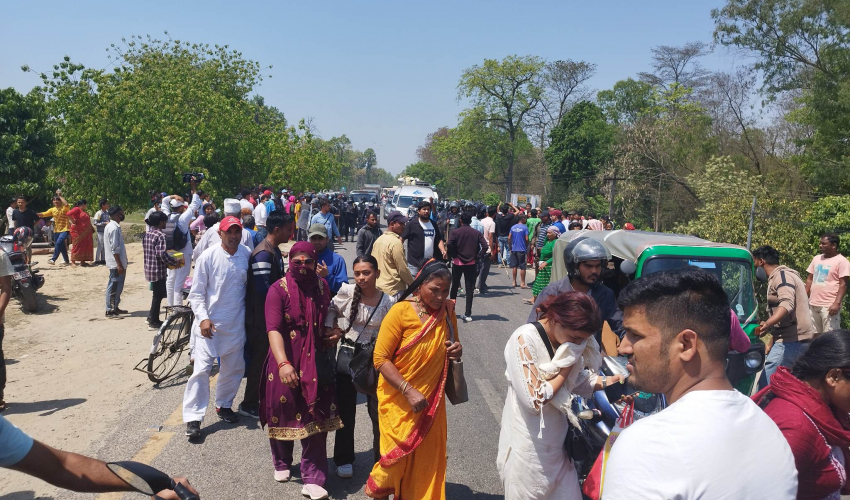
[[[540,103],[544,66],[544,61],[535,56],[485,59],[483,65],[467,68],[458,84],[460,97],[472,100],[475,108],[481,110],[483,122],[507,136],[509,147],[504,153],[502,182],[508,197],[513,190],[518,149],[525,147],[523,141],[528,141],[522,132],[523,120]]]

